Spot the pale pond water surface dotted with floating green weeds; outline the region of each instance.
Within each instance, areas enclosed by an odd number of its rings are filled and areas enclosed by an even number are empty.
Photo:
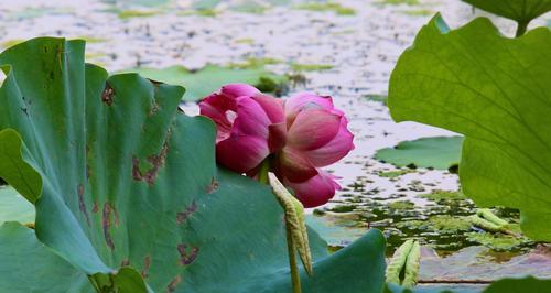
[[[40,35],[85,39],[87,61],[111,72],[261,63],[276,75],[291,76],[288,95],[331,95],[350,120],[356,149],[327,169],[342,177],[344,188],[326,206],[309,210],[310,225],[334,249],[371,227],[387,236],[389,256],[406,239],[421,240],[422,280],[551,278],[545,246],[484,235],[466,223],[476,206],[461,194],[456,174],[374,159],[378,150],[401,141],[455,135],[396,123],[385,105],[396,61],[439,11],[451,26],[488,17],[452,0],[19,0],[0,3],[0,46]],[[493,20],[512,35],[512,22]],[[532,25],[547,22],[543,18]],[[193,102],[182,108],[197,113]],[[518,223],[515,210],[495,213]]]

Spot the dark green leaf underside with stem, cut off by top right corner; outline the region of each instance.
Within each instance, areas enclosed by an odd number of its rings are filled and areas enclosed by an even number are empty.
[[[463,0],[479,9],[528,23],[531,20],[551,11],[551,0]]]

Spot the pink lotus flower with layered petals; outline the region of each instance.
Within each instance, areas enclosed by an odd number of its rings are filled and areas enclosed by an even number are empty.
[[[216,159],[255,176],[264,160],[305,207],[327,203],[341,186],[321,170],[354,149],[354,135],[331,97],[299,94],[285,101],[245,84],[224,86],[199,104],[217,127]]]

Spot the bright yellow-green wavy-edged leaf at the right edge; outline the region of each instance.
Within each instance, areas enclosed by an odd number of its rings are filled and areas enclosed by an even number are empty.
[[[475,45],[476,44],[476,45]],[[389,108],[465,134],[460,177],[477,205],[519,208],[522,230],[551,240],[551,32],[500,35],[487,19],[424,26],[392,73]]]

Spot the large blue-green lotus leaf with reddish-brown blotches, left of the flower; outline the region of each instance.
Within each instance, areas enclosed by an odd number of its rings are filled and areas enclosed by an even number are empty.
[[[281,207],[268,186],[216,167],[214,123],[177,111],[182,87],[137,74],[108,77],[84,64],[84,42],[63,39],[22,43],[0,54],[0,155],[11,160],[0,176],[34,203],[36,238],[60,257],[7,269],[7,289],[12,275],[63,260],[98,290],[290,290]],[[316,262],[304,291],[333,292],[335,280],[382,287],[379,231],[333,256],[315,232],[310,240]],[[24,253],[13,241],[0,234],[0,251]],[[84,285],[50,278],[57,287]],[[41,284],[32,281],[8,291]]]

